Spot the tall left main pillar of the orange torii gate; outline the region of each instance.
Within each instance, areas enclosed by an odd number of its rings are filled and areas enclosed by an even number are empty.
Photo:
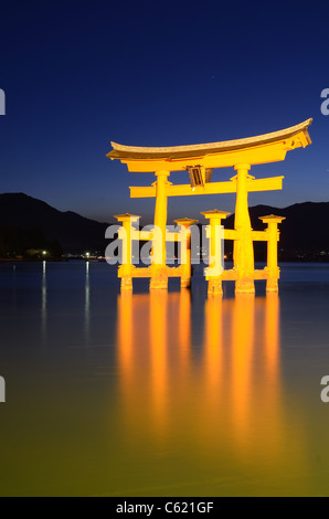
[[[167,192],[166,187],[169,183],[167,177],[170,171],[156,171],[157,198],[155,210],[155,226],[158,227],[161,235],[156,231],[153,235],[152,247],[152,272],[150,279],[150,289],[168,288],[168,273],[166,268],[166,225],[167,225]]]

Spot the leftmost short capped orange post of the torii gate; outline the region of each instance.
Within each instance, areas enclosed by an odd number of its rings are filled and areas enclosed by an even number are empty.
[[[115,218],[118,222],[123,223],[119,229],[118,235],[123,243],[123,262],[119,266],[118,276],[121,278],[121,290],[132,290],[132,248],[131,248],[131,224],[140,216],[135,214],[116,214]]]

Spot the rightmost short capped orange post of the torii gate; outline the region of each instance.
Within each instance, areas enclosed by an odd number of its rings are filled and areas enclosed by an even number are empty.
[[[286,220],[284,216],[276,216],[270,214],[268,216],[261,216],[264,223],[267,224],[265,233],[267,236],[267,279],[266,279],[266,292],[278,292],[277,280],[279,278],[279,267],[277,266],[277,242],[279,241],[279,231],[277,225]]]

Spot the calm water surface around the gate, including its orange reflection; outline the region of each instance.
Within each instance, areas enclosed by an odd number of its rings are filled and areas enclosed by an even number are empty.
[[[0,265],[0,495],[329,496],[329,265],[279,296]]]

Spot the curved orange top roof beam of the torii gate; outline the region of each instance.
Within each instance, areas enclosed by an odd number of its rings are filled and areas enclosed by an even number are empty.
[[[188,166],[224,168],[236,163],[266,163],[284,160],[288,150],[311,142],[307,128],[312,119],[279,131],[245,139],[172,147],[136,147],[112,142],[110,159],[119,159],[129,171],[180,171]]]

